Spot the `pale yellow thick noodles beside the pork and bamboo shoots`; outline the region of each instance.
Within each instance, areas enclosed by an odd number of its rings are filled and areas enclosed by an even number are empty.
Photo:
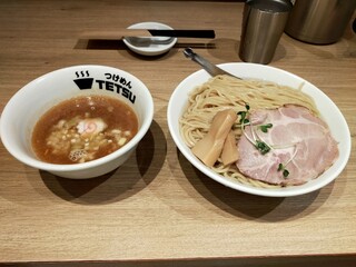
[[[219,110],[233,108],[236,112],[245,111],[246,103],[249,105],[250,111],[278,108],[286,103],[300,105],[318,116],[313,99],[301,92],[301,87],[303,85],[298,89],[293,89],[275,82],[239,80],[229,76],[210,78],[190,93],[187,109],[179,121],[180,134],[187,146],[191,148],[208,132],[210,122]],[[236,138],[239,139],[240,126],[236,123],[233,129]],[[212,169],[217,174],[237,179],[241,184],[265,188],[279,187],[245,177],[238,171],[235,164],[222,166],[218,160]]]

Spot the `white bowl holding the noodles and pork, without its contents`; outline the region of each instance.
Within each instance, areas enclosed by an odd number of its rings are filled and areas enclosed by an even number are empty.
[[[210,78],[208,72],[205,70],[199,70],[188,76],[177,86],[170,97],[167,109],[167,121],[170,135],[176,146],[191,165],[194,165],[206,176],[227,187],[265,197],[291,197],[304,195],[318,190],[337,178],[337,176],[345,168],[350,155],[350,134],[347,122],[340,110],[320,89],[296,75],[269,66],[256,63],[225,63],[219,65],[219,67],[238,77],[274,81],[293,88],[298,88],[298,86],[304,83],[301,91],[316,100],[316,105],[322,117],[329,126],[334,138],[338,141],[339,157],[335,164],[325,172],[319,175],[319,177],[300,186],[258,188],[241,184],[236,179],[218,175],[212,169],[205,166],[191,152],[180,135],[179,118],[186,109],[190,91]]]

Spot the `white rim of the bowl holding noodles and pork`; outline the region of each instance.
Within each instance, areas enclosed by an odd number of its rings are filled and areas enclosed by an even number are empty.
[[[325,99],[327,99],[329,101],[329,103],[333,106],[333,108],[335,110],[337,110],[338,116],[340,117],[339,123],[344,127],[345,137],[346,137],[346,139],[343,140],[343,142],[345,142],[345,147],[346,147],[344,155],[343,155],[344,159],[338,164],[337,168],[333,172],[333,176],[330,176],[328,179],[318,180],[317,182],[315,182],[317,180],[317,178],[316,178],[316,179],[305,184],[308,186],[293,186],[293,187],[277,188],[277,189],[274,189],[274,188],[264,189],[264,188],[253,187],[249,185],[244,185],[241,182],[238,182],[237,180],[233,180],[233,179],[229,179],[227,177],[222,177],[222,176],[214,172],[210,168],[205,166],[199,159],[197,159],[191,154],[190,149],[187,147],[187,145],[181,139],[180,132],[176,132],[175,126],[176,126],[176,123],[178,123],[178,121],[172,121],[174,113],[177,110],[177,107],[174,107],[177,101],[177,96],[179,93],[181,93],[180,90],[184,90],[182,88],[186,86],[186,83],[189,83],[192,80],[194,80],[194,82],[197,82],[197,80],[199,80],[199,78],[205,81],[207,81],[209,78],[211,78],[211,76],[209,76],[205,70],[200,69],[200,70],[197,70],[197,71],[190,73],[188,77],[186,77],[184,80],[181,80],[179,82],[179,85],[175,88],[175,90],[169,99],[168,108],[167,108],[167,120],[168,120],[168,128],[170,131],[170,136],[172,137],[179,151],[186,157],[186,159],[188,159],[188,161],[194,167],[196,167],[199,171],[201,171],[202,174],[205,174],[209,178],[216,180],[217,182],[219,182],[224,186],[227,186],[229,188],[233,188],[233,189],[236,189],[239,191],[244,191],[247,194],[257,195],[257,196],[265,196],[265,197],[291,197],[291,196],[308,194],[308,192],[312,192],[312,191],[315,191],[315,190],[323,188],[324,186],[328,185],[329,182],[332,182],[333,180],[335,180],[338,177],[338,175],[343,171],[343,169],[345,168],[345,166],[349,159],[352,140],[350,140],[349,128],[348,128],[348,125],[347,125],[343,113],[340,112],[338,107],[328,98],[328,96],[326,96],[319,88],[317,88],[315,85],[308,82],[304,78],[296,76],[289,71],[276,68],[276,67],[266,66],[266,65],[258,65],[258,63],[250,63],[250,62],[227,62],[227,63],[221,63],[221,65],[217,65],[217,66],[220,67],[221,69],[224,69],[226,71],[230,71],[231,73],[237,75],[237,76],[239,73],[237,73],[237,71],[234,72],[234,68],[236,68],[236,69],[238,69],[238,68],[253,68],[254,70],[260,70],[261,72],[264,70],[274,71],[276,73],[285,76],[285,78],[293,79],[295,81],[300,81],[300,82],[304,82],[304,83],[307,83],[307,85],[314,87],[320,96],[323,96]],[[256,78],[256,77],[253,76],[250,78]],[[267,80],[268,80],[268,78],[267,78]],[[200,81],[199,85],[201,85],[202,82]],[[195,86],[190,85],[189,89],[186,88],[184,90],[185,91],[184,97],[187,97],[188,93],[191,90],[194,90],[194,87]],[[181,95],[179,97],[181,97]],[[181,106],[181,107],[184,109],[184,106]],[[180,113],[178,117],[180,117],[180,116],[181,116],[181,110],[180,110]],[[338,161],[338,159],[336,160],[336,162],[337,161]]]

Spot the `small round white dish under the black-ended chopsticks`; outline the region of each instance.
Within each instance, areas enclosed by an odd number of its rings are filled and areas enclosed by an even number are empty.
[[[159,22],[140,22],[131,24],[128,29],[157,29],[172,30],[171,27]],[[177,42],[170,37],[127,37],[123,43],[134,52],[142,56],[159,56],[169,51]]]

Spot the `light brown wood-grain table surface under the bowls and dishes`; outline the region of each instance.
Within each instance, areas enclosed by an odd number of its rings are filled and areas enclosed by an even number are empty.
[[[266,198],[226,188],[195,169],[169,134],[166,112],[178,83],[199,66],[238,62],[243,3],[214,1],[0,1],[0,110],[32,79],[96,63],[141,79],[155,101],[149,132],[110,175],[71,180],[24,166],[0,145],[0,263],[87,266],[352,266],[356,263],[356,37],[313,46],[286,34],[270,66],[328,95],[352,132],[345,170],[304,196]],[[215,40],[179,39],[160,57],[120,41],[86,41],[83,31],[139,21],[214,29]],[[31,265],[32,266],[32,265]],[[354,265],[355,266],[355,265]]]

